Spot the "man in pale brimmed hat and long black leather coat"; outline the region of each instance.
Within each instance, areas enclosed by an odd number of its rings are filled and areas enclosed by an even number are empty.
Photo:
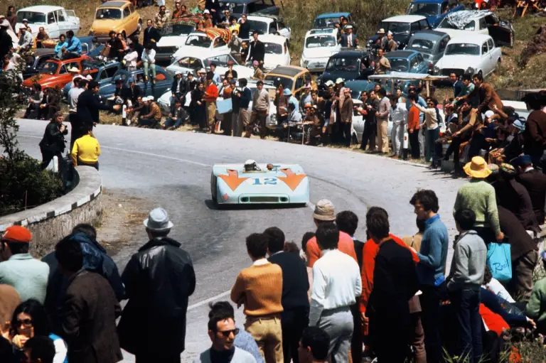
[[[167,237],[173,226],[166,210],[152,210],[144,220],[149,242],[122,273],[129,301],[118,325],[119,343],[137,362],[178,363],[185,349],[186,311],[196,275],[188,252]]]

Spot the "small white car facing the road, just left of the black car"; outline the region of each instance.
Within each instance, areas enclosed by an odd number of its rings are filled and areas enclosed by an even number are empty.
[[[305,35],[299,66],[309,72],[324,72],[328,59],[340,50],[337,28],[311,29]]]

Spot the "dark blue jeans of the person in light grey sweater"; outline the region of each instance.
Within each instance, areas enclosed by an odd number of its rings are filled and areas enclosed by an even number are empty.
[[[481,341],[480,291],[462,289],[449,293],[454,307],[457,337],[455,354],[465,362],[478,363],[483,352]],[[466,360],[468,359],[468,360]]]

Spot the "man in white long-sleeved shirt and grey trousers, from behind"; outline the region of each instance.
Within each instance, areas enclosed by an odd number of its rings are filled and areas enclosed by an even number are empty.
[[[330,336],[328,355],[333,363],[348,362],[355,328],[350,305],[362,292],[360,271],[351,256],[338,250],[339,231],[335,224],[320,224],[316,240],[322,257],[313,265],[309,326],[321,327]]]

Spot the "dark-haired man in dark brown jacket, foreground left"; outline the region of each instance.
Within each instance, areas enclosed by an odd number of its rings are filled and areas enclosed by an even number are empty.
[[[61,273],[68,277],[58,329],[68,345],[68,361],[119,362],[123,356],[116,319],[122,308],[112,287],[100,274],[83,269],[82,247],[73,239],[62,239],[55,246],[55,258]]]

